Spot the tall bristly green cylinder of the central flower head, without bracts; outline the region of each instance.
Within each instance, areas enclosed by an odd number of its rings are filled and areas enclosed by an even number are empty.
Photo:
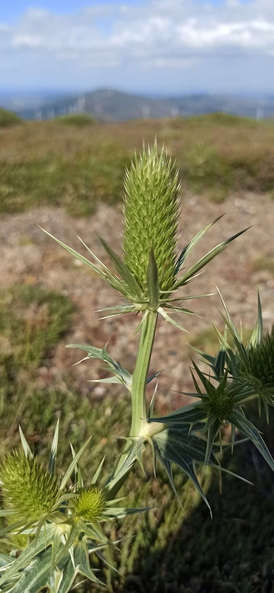
[[[125,175],[123,257],[145,288],[149,252],[154,250],[161,290],[174,284],[179,220],[178,171],[171,158],[145,146]]]

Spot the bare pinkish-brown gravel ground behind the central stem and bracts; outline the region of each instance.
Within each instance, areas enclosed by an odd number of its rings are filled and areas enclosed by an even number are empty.
[[[257,309],[257,286],[263,307],[265,327],[274,320],[274,273],[259,269],[258,260],[262,257],[274,258],[273,222],[274,201],[269,196],[243,193],[232,195],[225,203],[215,204],[203,197],[189,195],[182,200],[181,236],[182,248],[193,235],[216,216],[227,214],[205,235],[196,246],[189,264],[194,263],[209,249],[221,243],[243,228],[250,227],[243,236],[237,238],[205,271],[182,291],[182,294],[203,294],[215,292],[215,283],[221,290],[231,314],[237,323],[240,317],[243,326],[254,327]],[[88,379],[106,376],[98,361],[88,361],[82,365],[71,365],[81,358],[77,350],[64,348],[65,343],[89,343],[102,347],[110,338],[109,352],[116,360],[132,371],[138,345],[138,336],[133,332],[139,318],[131,315],[98,321],[95,310],[119,304],[119,296],[105,285],[95,273],[62,250],[49,237],[43,234],[36,223],[46,228],[69,246],[76,248],[88,257],[87,251],[79,243],[77,234],[87,243],[100,259],[107,262],[103,247],[98,240],[102,235],[114,250],[120,250],[122,232],[121,208],[100,206],[90,218],[71,218],[62,208],[39,208],[32,211],[3,215],[0,228],[0,288],[14,283],[38,283],[47,289],[56,289],[76,305],[74,325],[69,335],[59,344],[52,358],[46,361],[39,371],[38,382],[43,385],[57,385],[68,381],[69,388],[100,398],[106,387],[88,383]],[[273,260],[274,261],[274,260]],[[214,321],[222,329],[217,295],[195,299],[187,306],[202,318],[188,315],[178,318],[179,323],[197,335],[211,327]],[[151,372],[164,369],[160,375],[158,388],[158,409],[166,406],[188,403],[186,396],[177,395],[172,390],[192,389],[190,378],[189,353],[187,346],[189,334],[180,332],[170,324],[165,326],[160,319],[151,359]],[[119,387],[107,387],[114,396]],[[152,385],[149,385],[148,396]],[[175,401],[174,401],[175,400]]]

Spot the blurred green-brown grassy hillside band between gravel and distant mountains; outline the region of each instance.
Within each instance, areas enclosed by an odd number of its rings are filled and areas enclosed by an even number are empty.
[[[183,193],[222,201],[233,191],[274,192],[272,121],[210,114],[90,126],[74,119],[0,129],[1,212],[49,203],[81,216],[101,200],[119,201],[134,149],[155,134],[176,157]]]

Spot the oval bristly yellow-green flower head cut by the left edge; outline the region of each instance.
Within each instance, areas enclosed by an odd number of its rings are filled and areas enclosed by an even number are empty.
[[[5,508],[14,510],[16,520],[36,522],[47,517],[60,497],[59,482],[37,457],[14,451],[0,467]]]

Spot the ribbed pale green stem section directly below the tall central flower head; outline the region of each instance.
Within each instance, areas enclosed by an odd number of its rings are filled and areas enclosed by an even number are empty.
[[[129,436],[141,436],[146,417],[146,378],[157,325],[157,311],[149,311],[141,327],[141,336],[132,378],[132,421]]]

